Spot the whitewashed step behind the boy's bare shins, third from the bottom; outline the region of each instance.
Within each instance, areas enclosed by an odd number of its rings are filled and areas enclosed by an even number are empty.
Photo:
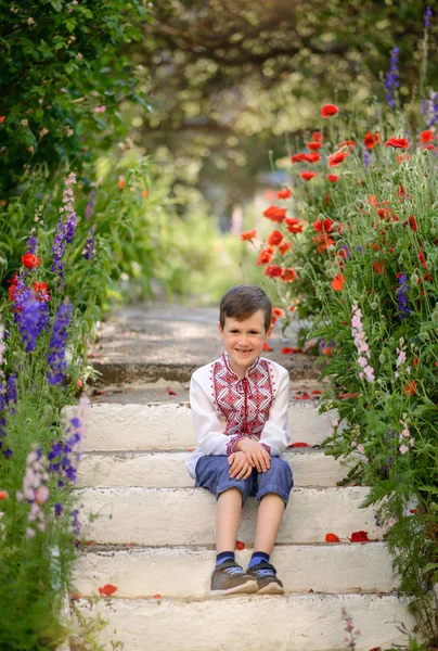
[[[347,540],[364,529],[381,538],[371,508],[359,509],[368,495],[363,487],[294,488],[278,542],[323,542],[334,533]],[[203,488],[80,488],[82,537],[103,544],[210,545],[215,541],[216,501]],[[252,545],[256,500],[243,509],[239,539]],[[91,520],[89,520],[91,514]]]

